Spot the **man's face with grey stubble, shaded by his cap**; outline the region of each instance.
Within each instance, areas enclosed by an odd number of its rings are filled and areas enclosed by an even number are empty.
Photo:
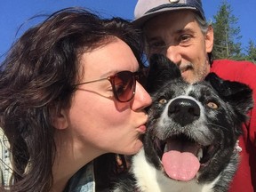
[[[148,20],[143,28],[148,42],[148,56],[162,53],[177,64],[189,83],[204,79],[210,71],[207,52],[212,52],[213,31],[204,34],[195,13],[168,12]]]

